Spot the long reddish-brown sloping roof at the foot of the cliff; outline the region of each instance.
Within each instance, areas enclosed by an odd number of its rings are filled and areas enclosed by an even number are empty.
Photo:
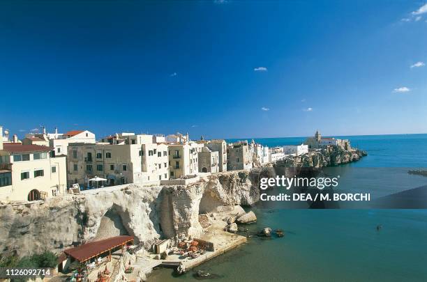
[[[133,236],[120,235],[104,240],[82,244],[80,246],[76,246],[75,248],[66,249],[63,252],[80,262],[84,262],[90,258],[100,255],[101,253],[104,253],[105,251],[114,249],[115,247],[126,244],[130,241],[133,241]]]

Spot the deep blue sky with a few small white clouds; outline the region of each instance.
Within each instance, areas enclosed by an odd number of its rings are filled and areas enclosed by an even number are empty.
[[[427,132],[424,1],[1,1],[0,123],[193,138]]]

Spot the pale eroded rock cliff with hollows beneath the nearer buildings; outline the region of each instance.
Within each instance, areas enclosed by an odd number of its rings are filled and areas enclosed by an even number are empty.
[[[133,235],[146,246],[160,237],[202,233],[200,213],[220,205],[250,205],[259,198],[258,172],[211,175],[188,186],[122,185],[26,205],[0,206],[0,253],[59,253],[75,244]]]

